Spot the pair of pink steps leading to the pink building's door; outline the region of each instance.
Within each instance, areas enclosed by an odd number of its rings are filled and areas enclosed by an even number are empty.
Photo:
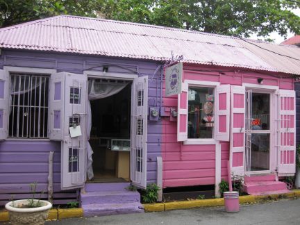
[[[244,192],[251,195],[283,194],[290,192],[284,182],[275,181],[274,174],[245,176]]]

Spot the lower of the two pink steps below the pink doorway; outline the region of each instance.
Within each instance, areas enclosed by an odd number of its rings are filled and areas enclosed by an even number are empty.
[[[286,184],[281,181],[250,181],[244,183],[244,191],[249,193],[287,190]]]

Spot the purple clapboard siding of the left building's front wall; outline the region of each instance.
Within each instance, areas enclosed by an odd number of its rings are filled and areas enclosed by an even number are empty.
[[[3,49],[0,56],[0,69],[3,66],[33,67],[45,69],[57,69],[57,72],[72,72],[83,74],[84,69],[102,71],[99,65],[108,64],[109,72],[128,74],[131,71],[149,76],[149,106],[160,106],[160,72],[153,76],[153,72],[158,67],[158,63],[146,62],[144,60],[132,60],[122,58],[108,58],[98,56],[80,56],[75,54],[51,53],[42,51],[19,51]],[[114,66],[117,65],[117,66]],[[130,69],[124,69],[124,67]],[[59,98],[60,93],[56,93]],[[161,122],[149,122],[148,124],[148,155],[147,158],[147,182],[156,182],[156,157],[160,153],[160,135],[162,133]],[[6,194],[9,190],[24,193],[26,185],[34,179],[40,181],[43,188],[47,187],[47,163],[49,151],[54,151],[54,187],[60,190],[60,142],[49,141],[24,141],[14,140],[0,142],[0,192],[4,189]],[[7,166],[7,167],[6,167]],[[6,168],[6,169],[3,169]],[[3,170],[2,170],[3,169]],[[9,175],[7,175],[9,174]],[[23,176],[24,175],[24,176]],[[19,181],[17,180],[19,176]],[[2,180],[3,178],[3,180]],[[8,183],[5,183],[8,182]],[[4,187],[5,185],[5,187]],[[21,189],[15,189],[16,185],[21,185]],[[11,188],[11,189],[10,189]],[[25,188],[25,189],[24,189]],[[24,192],[23,192],[24,191]],[[64,192],[61,192],[64,193]],[[64,200],[55,200],[63,202]]]

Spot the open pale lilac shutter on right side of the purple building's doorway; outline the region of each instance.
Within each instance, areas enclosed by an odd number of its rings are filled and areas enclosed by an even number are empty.
[[[131,181],[147,186],[148,77],[135,78],[131,90]]]

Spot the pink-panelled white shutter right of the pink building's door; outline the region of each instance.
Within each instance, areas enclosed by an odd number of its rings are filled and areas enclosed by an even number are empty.
[[[278,91],[278,173],[296,172],[296,97],[294,90]]]

